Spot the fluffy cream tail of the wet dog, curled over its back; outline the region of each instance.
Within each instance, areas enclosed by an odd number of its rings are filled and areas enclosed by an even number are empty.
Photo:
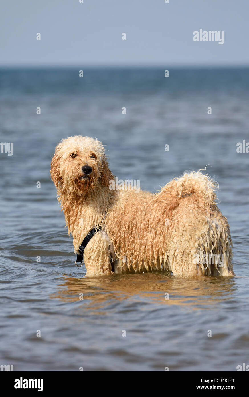
[[[216,183],[208,174],[203,174],[201,170],[197,172],[184,173],[180,178],[162,187],[161,191],[155,195],[153,201],[164,204],[165,212],[169,212],[178,206],[180,200],[186,196],[193,195],[203,206],[216,207]]]

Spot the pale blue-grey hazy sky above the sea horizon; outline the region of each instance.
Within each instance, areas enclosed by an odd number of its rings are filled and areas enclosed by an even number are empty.
[[[249,66],[248,20],[248,0],[2,1],[0,66]]]

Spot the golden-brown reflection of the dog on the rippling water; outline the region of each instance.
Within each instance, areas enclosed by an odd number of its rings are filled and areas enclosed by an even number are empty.
[[[149,301],[159,304],[192,305],[215,304],[232,299],[236,278],[192,277],[177,278],[169,272],[122,274],[114,276],[73,278],[65,281],[53,296],[64,301],[77,301],[83,293],[88,308],[107,308],[113,301]],[[169,299],[167,295],[169,294]]]

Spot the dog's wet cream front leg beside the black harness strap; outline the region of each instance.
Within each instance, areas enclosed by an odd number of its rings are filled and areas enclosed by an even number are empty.
[[[104,231],[99,231],[92,237],[84,251],[86,276],[113,274],[111,262],[110,241]]]

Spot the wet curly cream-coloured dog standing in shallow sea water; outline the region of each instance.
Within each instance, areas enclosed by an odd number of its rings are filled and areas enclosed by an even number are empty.
[[[218,185],[201,170],[157,193],[110,189],[114,175],[102,143],[77,135],[56,146],[50,173],[75,253],[84,250],[86,276],[153,270],[234,276],[228,221],[216,206]]]

